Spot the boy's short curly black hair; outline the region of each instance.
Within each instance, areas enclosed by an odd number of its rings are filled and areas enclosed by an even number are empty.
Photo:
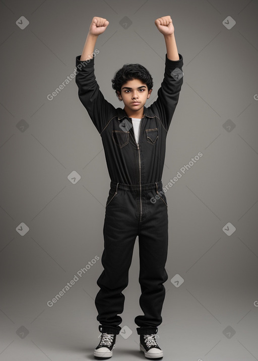
[[[142,83],[147,85],[148,90],[153,87],[153,79],[149,71],[141,64],[124,64],[121,69],[117,70],[114,78],[112,79],[112,88],[121,93],[121,87],[127,83],[128,80],[139,79]]]

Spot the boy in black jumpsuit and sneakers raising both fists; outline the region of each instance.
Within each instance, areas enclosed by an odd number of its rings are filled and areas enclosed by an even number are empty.
[[[76,57],[79,98],[102,137],[111,179],[103,228],[103,272],[97,280],[95,299],[101,339],[94,356],[111,357],[122,319],[128,270],[135,239],[139,237],[140,306],[144,315],[135,323],[140,350],[146,357],[163,356],[156,342],[165,298],[163,283],[168,250],[167,200],[162,192],[166,135],[182,85],[182,55],[178,54],[170,16],[155,20],[164,35],[166,60],[164,80],[157,100],[148,108],[152,77],[140,64],[127,64],[112,79],[112,88],[124,108],[114,108],[99,90],[94,76],[94,47],[109,22],[94,17],[83,48]]]

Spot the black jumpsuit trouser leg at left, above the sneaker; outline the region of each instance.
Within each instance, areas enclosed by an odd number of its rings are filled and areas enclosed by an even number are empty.
[[[118,189],[113,198],[112,194],[114,190],[109,191],[106,206],[104,250],[101,257],[104,270],[97,280],[100,290],[95,298],[97,320],[106,328],[117,327],[122,322],[117,314],[123,312],[122,291],[128,285],[128,270],[138,232],[136,205],[132,194],[122,189]]]

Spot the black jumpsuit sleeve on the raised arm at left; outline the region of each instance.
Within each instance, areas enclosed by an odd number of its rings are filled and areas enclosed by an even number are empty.
[[[76,56],[76,78],[78,86],[78,96],[84,107],[97,128],[101,133],[108,121],[114,114],[112,104],[104,99],[99,89],[94,74],[94,57],[88,61],[80,60],[81,55]]]

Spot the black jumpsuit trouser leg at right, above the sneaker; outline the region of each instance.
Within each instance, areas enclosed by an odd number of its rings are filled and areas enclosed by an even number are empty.
[[[138,334],[157,332],[161,324],[161,311],[165,299],[163,283],[168,279],[165,269],[168,252],[168,212],[167,200],[163,194],[154,202],[157,195],[151,190],[142,197],[146,217],[141,222],[139,233],[139,254],[141,285],[140,306],[144,315],[135,318]]]

